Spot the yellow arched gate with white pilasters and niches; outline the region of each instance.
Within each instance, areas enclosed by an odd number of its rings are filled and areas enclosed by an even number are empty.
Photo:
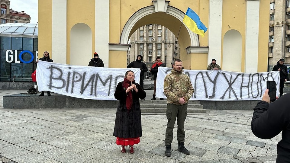
[[[97,52],[105,67],[126,68],[128,40],[160,24],[180,46],[185,69],[266,72],[270,0],[38,0],[38,50],[55,62],[87,66]],[[190,7],[208,27],[198,37],[182,24]]]

